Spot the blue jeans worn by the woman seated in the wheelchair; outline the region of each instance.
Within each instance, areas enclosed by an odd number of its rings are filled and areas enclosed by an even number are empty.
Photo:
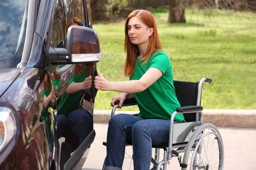
[[[105,170],[122,170],[126,141],[132,141],[134,170],[149,170],[152,145],[168,144],[169,131],[170,120],[143,119],[129,114],[113,116],[108,122]]]

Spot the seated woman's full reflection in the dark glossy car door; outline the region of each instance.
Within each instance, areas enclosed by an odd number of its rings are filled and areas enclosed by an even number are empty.
[[[72,25],[81,26],[81,22],[78,18],[73,18],[67,24],[66,31]],[[76,50],[72,51],[72,53],[80,54],[81,52]],[[91,114],[80,105],[85,90],[91,88],[92,77],[90,74],[93,65],[94,63],[75,65],[74,74],[70,78],[67,90],[62,94],[61,101],[57,107],[57,137],[64,136],[65,142],[71,144],[72,152],[78,147],[77,144],[74,146],[74,135],[79,137],[80,145],[93,130]],[[68,159],[68,157],[64,159]]]

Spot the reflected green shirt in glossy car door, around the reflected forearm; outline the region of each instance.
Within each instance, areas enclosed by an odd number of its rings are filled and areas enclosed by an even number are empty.
[[[84,79],[87,78],[87,68],[81,72],[81,74],[74,73],[68,82],[69,86],[72,82],[84,82]],[[80,102],[84,95],[84,90],[77,91],[73,94],[68,94],[66,91],[61,96],[61,101],[58,104],[57,113],[58,115],[64,114],[67,116],[72,111],[81,109]]]

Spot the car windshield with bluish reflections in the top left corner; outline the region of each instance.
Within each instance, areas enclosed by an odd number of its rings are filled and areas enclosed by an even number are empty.
[[[26,35],[28,1],[0,1],[0,68],[16,68]]]

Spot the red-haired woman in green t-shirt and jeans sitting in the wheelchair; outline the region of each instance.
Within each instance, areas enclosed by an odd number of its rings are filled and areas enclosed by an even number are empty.
[[[130,81],[109,82],[100,74],[96,89],[122,92],[112,99],[120,100],[133,94],[140,113],[137,116],[118,114],[109,121],[105,170],[121,170],[125,142],[132,141],[134,169],[148,170],[153,145],[169,141],[170,118],[180,107],[173,85],[172,65],[163,52],[153,15],[145,10],[129,14],[125,23],[125,75]],[[175,122],[185,122],[182,114]]]

